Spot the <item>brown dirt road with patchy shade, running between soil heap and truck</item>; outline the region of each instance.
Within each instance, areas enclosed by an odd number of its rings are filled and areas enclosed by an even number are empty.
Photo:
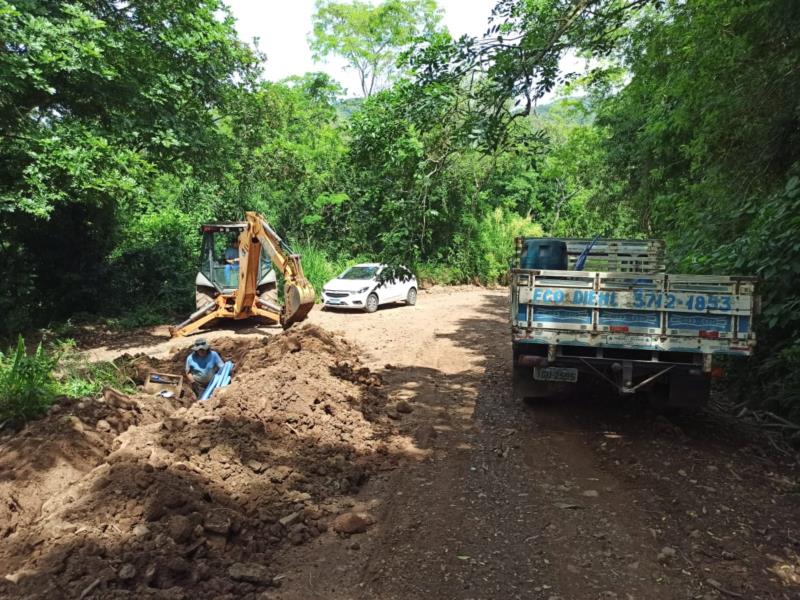
[[[501,291],[318,313],[414,408],[368,533],[283,555],[289,599],[800,598],[797,472],[704,416],[510,397]]]

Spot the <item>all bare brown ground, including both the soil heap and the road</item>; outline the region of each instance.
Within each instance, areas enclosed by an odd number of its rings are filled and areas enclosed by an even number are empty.
[[[796,457],[599,392],[514,402],[505,301],[217,330],[240,368],[208,403],[59,405],[0,440],[0,597],[800,598]],[[163,335],[87,343],[178,365]]]

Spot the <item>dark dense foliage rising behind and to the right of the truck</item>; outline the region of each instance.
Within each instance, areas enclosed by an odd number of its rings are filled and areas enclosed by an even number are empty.
[[[791,0],[646,11],[620,50],[630,82],[598,103],[608,179],[670,242],[674,268],[760,277],[762,360],[748,383],[784,409],[800,391],[798,26]]]

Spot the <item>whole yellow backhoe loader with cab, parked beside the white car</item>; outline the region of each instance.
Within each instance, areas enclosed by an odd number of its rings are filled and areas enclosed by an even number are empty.
[[[210,223],[200,231],[197,310],[170,327],[173,337],[188,335],[215,319],[262,317],[287,329],[306,318],[314,306],[314,288],[303,274],[300,255],[292,252],[264,217],[248,212],[244,222]],[[275,268],[284,278],[283,306],[278,303]]]

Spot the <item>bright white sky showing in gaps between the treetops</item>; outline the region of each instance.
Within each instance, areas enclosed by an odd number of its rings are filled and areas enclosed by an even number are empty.
[[[259,38],[258,47],[267,55],[264,75],[277,81],[289,75],[324,71],[347,89],[348,96],[360,94],[354,71],[343,70],[344,62],[330,58],[316,64],[308,47],[314,0],[226,0],[236,17],[239,37],[250,42]],[[438,0],[444,11],[443,24],[450,34],[482,35],[496,0]]]

